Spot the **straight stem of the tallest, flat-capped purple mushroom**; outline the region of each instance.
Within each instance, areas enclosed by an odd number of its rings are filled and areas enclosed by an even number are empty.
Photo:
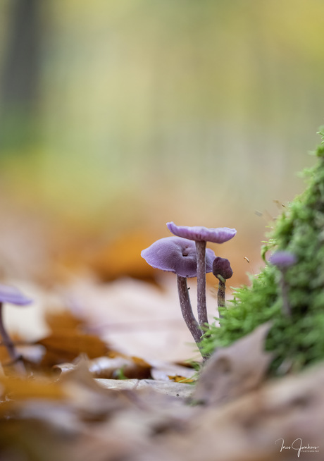
[[[196,240],[197,252],[197,309],[201,328],[208,326],[206,306],[206,242]]]

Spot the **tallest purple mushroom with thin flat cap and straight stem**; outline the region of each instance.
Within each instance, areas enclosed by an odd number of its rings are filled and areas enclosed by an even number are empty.
[[[168,230],[174,235],[194,240],[197,251],[197,305],[198,319],[201,327],[208,325],[206,307],[206,242],[223,243],[233,238],[236,229],[228,227],[206,228],[202,226],[176,226],[167,223]]]

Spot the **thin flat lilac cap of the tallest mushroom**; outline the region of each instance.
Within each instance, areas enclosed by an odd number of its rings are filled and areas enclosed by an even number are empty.
[[[198,240],[202,242],[223,243],[233,238],[236,229],[229,227],[206,228],[203,226],[176,226],[175,223],[166,223],[168,230],[174,235],[189,240]]]

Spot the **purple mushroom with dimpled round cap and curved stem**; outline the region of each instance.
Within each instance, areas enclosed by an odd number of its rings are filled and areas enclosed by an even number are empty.
[[[194,318],[187,288],[187,278],[197,277],[197,252],[194,242],[180,237],[166,237],[156,240],[141,252],[145,261],[156,269],[173,272],[177,275],[182,316],[197,345],[201,340],[201,329]],[[206,271],[213,269],[213,250],[206,251]]]

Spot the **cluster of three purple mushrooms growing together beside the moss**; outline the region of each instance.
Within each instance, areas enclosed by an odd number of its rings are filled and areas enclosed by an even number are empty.
[[[156,240],[141,256],[154,268],[176,274],[182,316],[199,347],[201,336],[208,328],[206,273],[213,272],[218,278],[218,307],[225,306],[225,280],[232,276],[228,259],[216,257],[213,250],[206,248],[206,242],[227,242],[235,236],[236,229],[176,226],[173,222],[166,225],[175,236]],[[187,278],[191,277],[197,277],[198,321],[192,312],[187,288]]]

